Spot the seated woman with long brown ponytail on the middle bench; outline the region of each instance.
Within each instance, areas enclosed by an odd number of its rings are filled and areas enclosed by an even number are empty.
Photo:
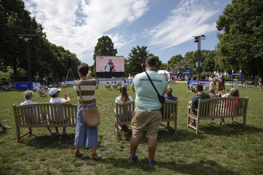
[[[127,101],[132,101],[132,97],[127,94],[127,88],[125,86],[121,86],[120,87],[120,96],[116,98],[115,103],[118,102],[118,103],[124,104]],[[119,111],[120,111],[120,108],[119,108]],[[129,109],[128,109],[128,115],[129,115],[129,112],[132,113],[132,111],[129,111]],[[122,120],[123,120],[122,108],[121,108],[121,113],[122,113]],[[126,106],[124,107],[124,119],[126,121]],[[120,113],[118,114],[118,120],[120,121]],[[119,125],[119,129],[120,129],[120,131],[122,129],[125,131],[125,130],[129,129],[129,125],[128,124],[127,125]]]

